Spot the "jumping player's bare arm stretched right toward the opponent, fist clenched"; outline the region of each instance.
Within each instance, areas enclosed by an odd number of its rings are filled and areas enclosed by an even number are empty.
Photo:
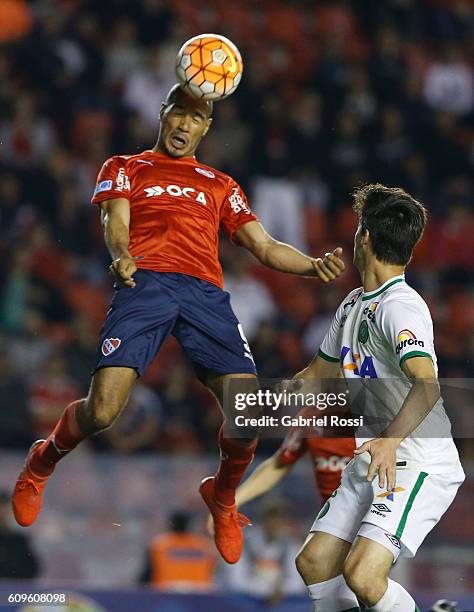
[[[253,253],[263,265],[279,272],[316,276],[328,283],[344,271],[341,248],[326,253],[323,259],[309,257],[289,244],[272,238],[258,221],[251,221],[239,228],[234,233],[234,240]]]

